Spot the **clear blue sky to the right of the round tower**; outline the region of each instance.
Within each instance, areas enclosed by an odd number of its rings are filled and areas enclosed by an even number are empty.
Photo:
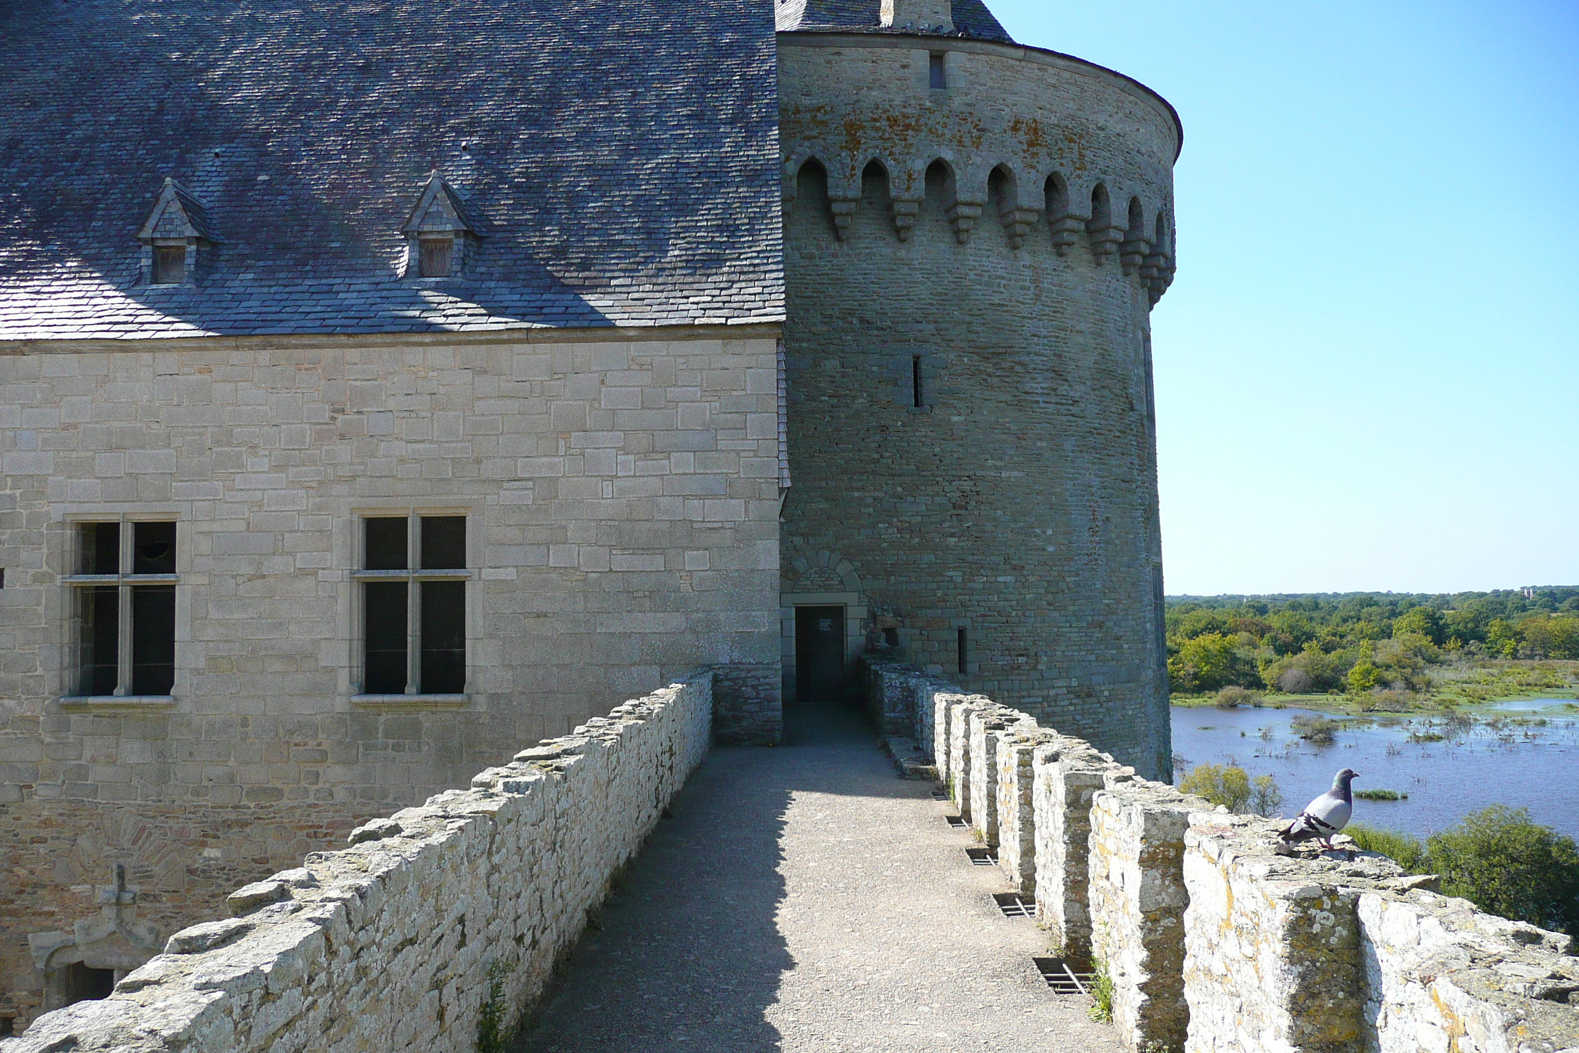
[[[988,5],[1184,120],[1170,595],[1579,583],[1579,3]]]

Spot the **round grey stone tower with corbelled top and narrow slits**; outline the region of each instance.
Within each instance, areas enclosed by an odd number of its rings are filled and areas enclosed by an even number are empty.
[[[1167,778],[1150,314],[1178,115],[977,0],[816,3],[778,35],[790,687],[829,624],[793,608],[843,606],[846,660]]]

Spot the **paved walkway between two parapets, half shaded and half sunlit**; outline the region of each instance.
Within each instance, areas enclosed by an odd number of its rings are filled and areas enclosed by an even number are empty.
[[[714,750],[516,1053],[1118,1050],[930,791],[837,714]]]

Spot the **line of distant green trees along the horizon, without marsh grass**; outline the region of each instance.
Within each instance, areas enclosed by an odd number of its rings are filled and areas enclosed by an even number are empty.
[[[1167,643],[1180,693],[1424,691],[1443,657],[1579,658],[1579,586],[1168,597]]]

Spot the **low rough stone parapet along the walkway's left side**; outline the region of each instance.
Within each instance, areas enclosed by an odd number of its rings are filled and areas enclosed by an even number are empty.
[[[471,1053],[489,1001],[508,1028],[542,993],[706,755],[712,690],[692,674],[357,827],[0,1048]]]

